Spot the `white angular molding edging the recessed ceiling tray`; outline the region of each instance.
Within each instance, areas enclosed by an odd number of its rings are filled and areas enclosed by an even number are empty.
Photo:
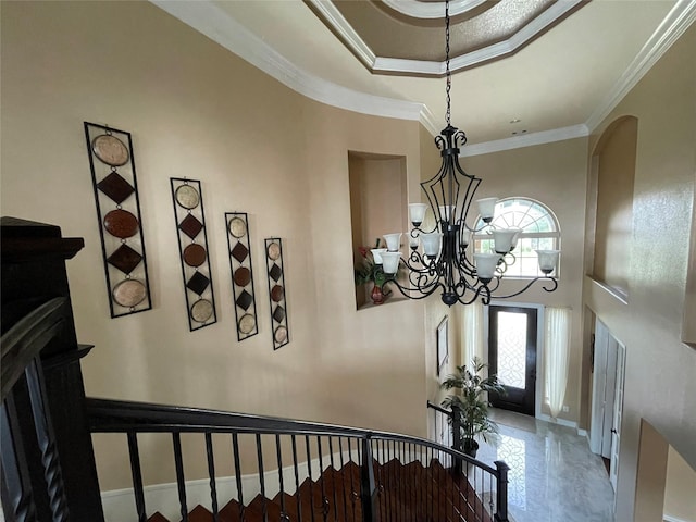
[[[452,72],[460,71],[465,67],[487,62],[496,58],[502,58],[511,54],[522,48],[527,41],[537,36],[550,24],[558,18],[564,16],[568,12],[572,11],[584,0],[566,0],[563,2],[556,2],[537,17],[532,20],[529,24],[518,30],[507,40],[499,41],[497,44],[477,49],[465,54],[452,57],[450,59],[450,70]],[[338,11],[336,5],[330,0],[307,0],[307,3],[315,10],[320,16],[328,24],[328,26],[339,36],[341,41],[353,52],[360,61],[373,73],[389,73],[389,74],[418,74],[423,76],[443,76],[446,74],[446,63],[444,61],[433,60],[409,60],[402,58],[383,58],[377,57],[374,51],[368,46],[368,44],[360,37],[360,35],[352,28],[344,15]],[[391,2],[385,2],[389,7],[395,8],[394,4],[401,5],[403,0],[391,0]],[[412,1],[411,3],[420,4],[423,9],[439,11],[439,16],[443,17],[442,4],[439,2],[420,2]],[[468,9],[473,9],[475,2],[460,2],[463,9],[465,3],[471,3]],[[400,11],[397,9],[397,11]],[[400,11],[402,12],[402,11]],[[463,11],[462,11],[463,12]],[[433,16],[436,17],[436,16]]]

